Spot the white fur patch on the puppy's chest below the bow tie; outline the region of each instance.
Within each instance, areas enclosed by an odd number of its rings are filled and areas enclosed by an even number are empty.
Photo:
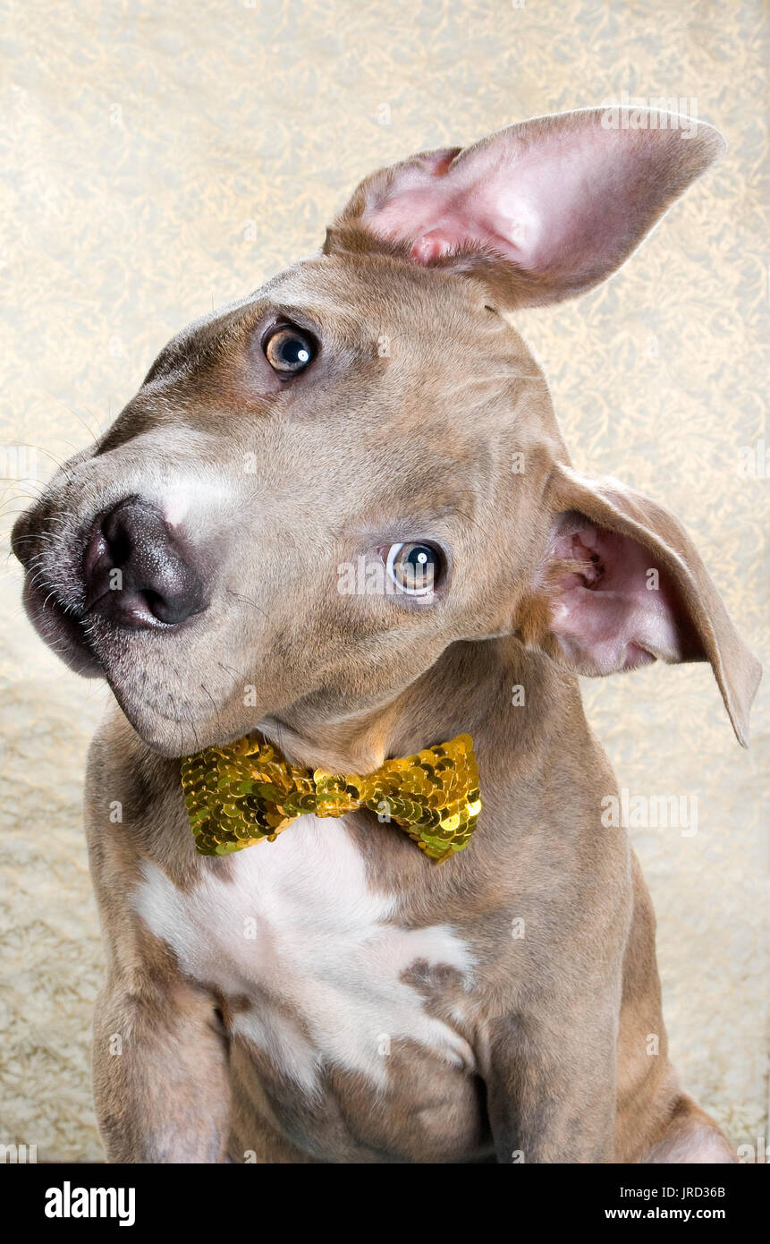
[[[254,996],[234,1029],[308,1091],[325,1065],[387,1080],[392,1042],[473,1069],[468,1042],[403,979],[418,960],[473,983],[468,945],[445,924],[407,929],[374,893],[341,821],[304,816],[231,857],[228,880],[183,892],[147,866],[133,906],[180,968],[225,995]]]

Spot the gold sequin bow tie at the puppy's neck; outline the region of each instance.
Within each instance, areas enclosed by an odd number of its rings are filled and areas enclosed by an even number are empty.
[[[340,775],[291,765],[259,734],[182,761],[195,847],[229,855],[274,842],[297,816],[343,816],[366,807],[396,821],[437,863],[468,845],[481,810],[473,740],[460,734],[374,773]]]

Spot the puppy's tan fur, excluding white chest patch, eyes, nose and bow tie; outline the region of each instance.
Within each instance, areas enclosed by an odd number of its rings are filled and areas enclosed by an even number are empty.
[[[647,228],[714,154],[702,136],[677,147],[682,167],[662,137],[666,175],[639,183]],[[731,1161],[678,1087],[649,897],[626,830],[600,822],[601,797],[617,787],[551,633],[542,577],[564,515],[632,535],[670,576],[698,646],[683,657],[712,662],[741,739],[755,663],[677,521],[572,471],[545,378],[498,313],[501,291],[515,306],[535,279],[489,254],[408,262],[361,225],[392,182],[377,174],[356,192],[322,254],[175,338],[98,449],[68,464],[16,529],[27,564],[35,537],[55,534],[56,561],[40,541],[46,583],[77,615],[73,550],[97,509],[148,480],[163,496],[188,475],[193,510],[208,506],[193,531],[215,583],[208,611],[180,634],[118,642],[98,618],[90,631],[119,703],[92,746],[86,817],[108,963],[95,1034],[108,1157]],[[557,279],[564,295],[562,276],[546,274],[540,301]],[[322,342],[312,376],[290,387],[259,348],[275,313],[312,325]],[[513,453],[525,455],[521,476]],[[386,536],[450,545],[450,582],[430,608],[336,591],[338,564]],[[511,708],[516,685],[526,700]],[[473,735],[484,809],[466,851],[435,868],[368,812],[346,817],[345,833],[369,891],[394,896],[394,927],[445,926],[469,948],[471,986],[452,964],[419,959],[403,979],[466,1042],[475,1070],[404,1040],[387,1087],[326,1066],[307,1093],[234,1033],[260,1003],[299,1037],[307,1016],[280,989],[260,999],[184,973],[137,914],[149,865],[180,896],[206,878],[226,894],[243,856],[282,850],[294,832],[229,858],[194,851],[179,756],[257,726],[289,759],[347,773]]]

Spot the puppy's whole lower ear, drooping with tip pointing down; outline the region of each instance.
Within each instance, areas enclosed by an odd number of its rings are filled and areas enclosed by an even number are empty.
[[[551,489],[556,519],[519,611],[520,638],[578,674],[708,661],[746,746],[761,668],[673,514],[561,464]]]

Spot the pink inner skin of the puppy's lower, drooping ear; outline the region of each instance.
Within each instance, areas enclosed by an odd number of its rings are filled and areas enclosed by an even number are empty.
[[[560,536],[551,560],[551,631],[581,673],[684,658],[689,621],[670,580],[641,544],[585,526]]]

